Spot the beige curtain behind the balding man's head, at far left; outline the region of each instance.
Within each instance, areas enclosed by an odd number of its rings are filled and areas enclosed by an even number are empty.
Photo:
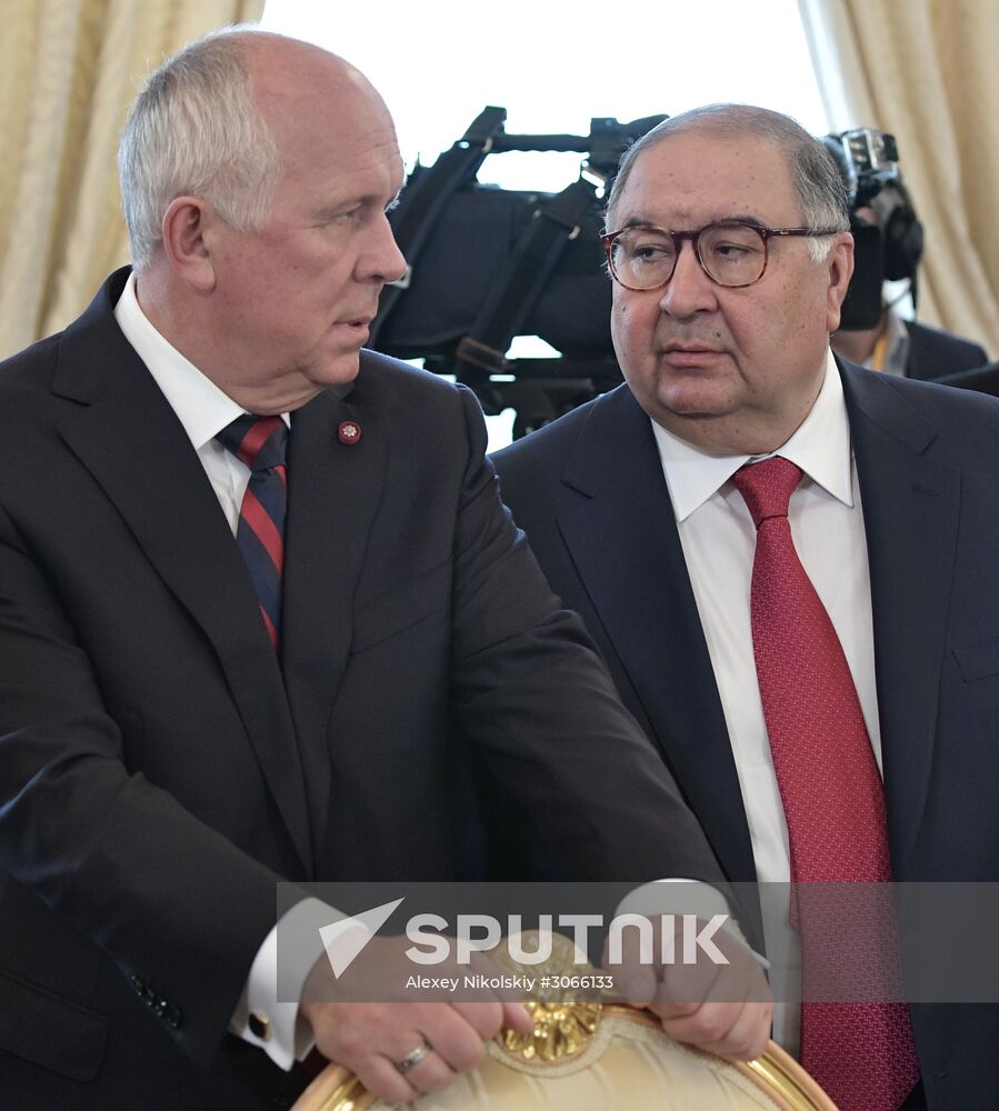
[[[0,0],[0,358],[128,261],[116,151],[142,77],[263,0]]]

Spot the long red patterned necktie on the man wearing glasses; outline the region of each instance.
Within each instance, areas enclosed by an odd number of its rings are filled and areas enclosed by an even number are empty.
[[[801,1063],[840,1111],[897,1111],[919,1080],[908,1007],[809,1001],[817,984],[828,989],[858,965],[869,984],[883,985],[868,999],[898,999],[901,969],[881,777],[842,645],[791,538],[788,502],[800,480],[800,468],[779,457],[732,477],[757,528],[753,655],[791,880],[803,884],[792,897],[801,932]],[[873,905],[882,919],[866,938],[861,922],[828,913],[822,895],[843,890],[829,885],[876,883],[886,887],[847,889],[866,892],[852,904]]]

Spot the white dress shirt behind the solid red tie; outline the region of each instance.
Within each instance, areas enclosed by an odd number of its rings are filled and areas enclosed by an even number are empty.
[[[655,421],[652,429],[725,711],[757,878],[788,883],[788,828],[752,654],[749,592],[756,528],[731,482],[753,457],[706,456]],[[791,536],[842,644],[880,770],[867,539],[842,383],[831,352],[811,412],[773,454],[805,472],[788,510]],[[787,967],[775,969],[775,992],[780,998],[785,978],[796,990],[800,982],[800,943],[788,922],[787,903],[776,914],[765,911],[763,930],[771,959],[779,952],[789,954]],[[797,1055],[800,1008],[778,1003],[773,1033]]]

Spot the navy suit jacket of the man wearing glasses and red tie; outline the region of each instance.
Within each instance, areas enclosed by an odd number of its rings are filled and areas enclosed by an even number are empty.
[[[870,560],[895,877],[997,881],[999,403],[851,364],[842,379]],[[752,880],[736,765],[649,419],[620,387],[494,462],[552,588],[583,615],[727,875]],[[995,1108],[999,1008],[912,1010],[930,1108]]]

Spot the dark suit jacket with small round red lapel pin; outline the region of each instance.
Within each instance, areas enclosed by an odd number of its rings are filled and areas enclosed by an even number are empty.
[[[717,864],[467,390],[364,353],[293,414],[279,668],[124,279],[0,366],[0,1102],[272,1107],[226,1029],[274,884],[452,875],[452,721],[566,874]]]

